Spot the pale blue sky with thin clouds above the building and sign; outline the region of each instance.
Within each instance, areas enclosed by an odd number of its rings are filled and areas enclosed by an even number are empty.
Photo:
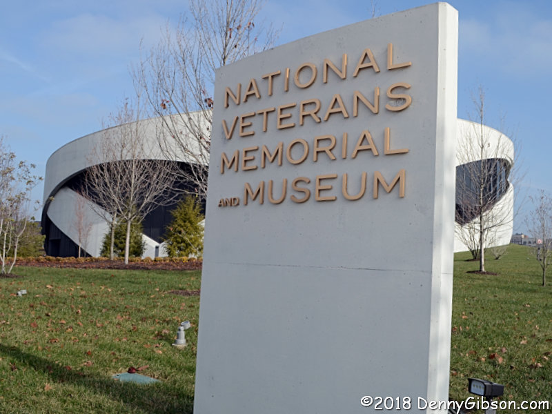
[[[375,1],[378,15],[428,1]],[[486,124],[520,142],[526,175],[519,190],[552,194],[552,2],[456,0],[460,16],[458,117],[471,94],[486,90]],[[50,154],[101,129],[102,119],[132,95],[129,68],[139,45],[157,43],[184,0],[1,0],[0,135],[19,159],[44,174]],[[261,19],[281,27],[277,44],[371,17],[360,0],[268,0]],[[521,192],[520,192],[521,193]],[[42,199],[42,186],[33,193]],[[515,230],[522,229],[518,217]]]

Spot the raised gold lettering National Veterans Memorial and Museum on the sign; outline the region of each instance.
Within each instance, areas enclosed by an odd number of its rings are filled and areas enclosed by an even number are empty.
[[[391,193],[397,187],[395,193],[398,193],[398,198],[404,198],[406,171],[400,169],[404,165],[379,168],[379,171],[373,172],[370,183],[368,183],[368,172],[359,171],[359,168],[362,168],[361,166],[366,161],[369,162],[372,157],[378,157],[380,150],[383,150],[384,156],[403,155],[410,151],[408,148],[401,147],[405,147],[412,140],[409,140],[408,136],[405,139],[402,136],[393,135],[395,140],[393,143],[398,147],[394,148],[391,143],[391,128],[394,126],[391,124],[384,127],[384,125],[388,125],[388,122],[392,123],[397,117],[400,118],[401,115],[395,114],[406,110],[413,103],[411,84],[404,81],[404,78],[400,78],[401,74],[408,74],[408,68],[412,66],[412,62],[405,61],[404,57],[408,56],[408,53],[405,54],[400,46],[395,48],[393,43],[387,43],[386,49],[369,44],[366,46],[356,50],[355,55],[342,53],[341,61],[339,61],[339,54],[333,54],[330,57],[321,57],[314,63],[304,61],[292,68],[284,68],[282,65],[278,70],[267,71],[260,77],[250,77],[247,71],[244,71],[244,77],[240,79],[243,83],[235,83],[224,88],[224,99],[222,96],[218,98],[220,101],[224,100],[224,108],[232,104],[239,106],[240,103],[244,103],[245,108],[239,110],[239,107],[233,107],[224,112],[227,114],[226,117],[221,117],[224,138],[219,133],[220,129],[213,128],[213,140],[219,141],[223,146],[222,149],[225,150],[221,151],[220,173],[222,175],[228,170],[259,171],[249,173],[251,177],[257,177],[257,179],[254,185],[250,182],[244,183],[243,198],[220,198],[219,207],[240,204],[247,206],[255,204],[255,201],[263,205],[265,196],[268,206],[282,204],[287,198],[290,198],[293,203],[302,204],[311,199],[311,193],[314,193],[313,201],[316,202],[337,199],[357,201],[370,192],[370,184],[373,184],[373,199],[379,197],[380,187],[386,193]],[[385,43],[382,46],[385,46]],[[357,62],[354,68],[351,67],[349,59],[353,59],[353,65]],[[385,62],[386,76],[377,75],[380,72],[377,61]],[[362,79],[353,79],[359,76]],[[347,81],[351,85],[344,88],[344,83]],[[311,88],[315,84],[316,88]],[[289,92],[290,88],[293,89],[293,98],[285,99],[285,92]],[[307,91],[308,88],[311,88],[311,93]],[[315,95],[317,92],[320,94],[318,97]],[[416,93],[417,90],[414,89],[414,92]],[[255,108],[253,103],[262,98],[273,106],[259,109],[266,106],[261,104]],[[286,101],[289,103],[282,103]],[[420,102],[422,101],[423,99],[420,99]],[[384,116],[378,120],[374,117],[380,115],[381,106],[383,106]],[[332,115],[341,115],[341,117],[332,118]],[[357,130],[346,129],[347,123],[342,122],[351,117],[355,118],[355,123],[351,122],[351,126],[356,125]],[[358,126],[359,121],[365,124]],[[301,128],[304,125],[307,127]],[[324,130],[324,125],[327,126],[327,130]],[[220,124],[218,126],[220,127]],[[376,126],[380,126],[377,132],[375,132]],[[297,128],[297,130],[289,130],[290,128]],[[280,132],[282,130],[285,131]],[[376,135],[372,135],[371,131]],[[404,131],[404,128],[401,131]],[[257,145],[239,146],[241,139],[230,141],[234,134],[239,138],[257,138],[255,142]],[[354,134],[355,138],[358,137],[355,142],[351,139],[350,144],[349,134]],[[337,137],[341,137],[340,143],[337,142]],[[380,148],[377,148],[376,144]],[[237,147],[239,149],[235,149]],[[353,169],[345,172],[346,162],[341,163],[346,159],[356,159],[362,151],[371,151],[372,155],[361,154],[361,159],[351,162]],[[309,157],[311,152],[312,158]],[[374,166],[373,170],[385,164],[386,159],[386,157],[376,159],[377,166]],[[395,161],[390,164],[395,165],[395,162],[401,161],[402,157],[391,157],[391,159]],[[319,164],[317,164],[318,161],[320,161]],[[361,164],[358,164],[359,162]],[[275,171],[284,163],[286,168],[278,170],[277,179],[267,177],[270,171]],[[303,163],[305,163],[303,166],[299,166]],[[338,165],[339,171],[331,174],[320,174],[319,172],[324,171],[316,171],[318,175],[315,175],[313,172],[315,166],[328,166],[328,164]],[[297,171],[294,175],[295,179],[286,177],[285,172],[293,170],[290,166],[298,166],[295,168]],[[393,177],[388,175],[391,174],[388,172],[389,169],[399,172]],[[298,173],[304,174],[300,172],[302,170],[311,171],[313,175],[311,178],[296,177]],[[391,177],[393,177],[391,181],[386,180]],[[336,179],[338,181],[335,181]],[[276,181],[277,184],[275,184]],[[337,188],[339,184],[342,186],[341,193]],[[282,187],[275,188],[279,185]]]

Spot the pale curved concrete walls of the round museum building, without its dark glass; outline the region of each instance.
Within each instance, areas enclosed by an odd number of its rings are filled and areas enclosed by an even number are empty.
[[[194,117],[196,122],[201,122],[202,119],[204,119],[204,117],[197,112],[190,114],[190,117]],[[172,120],[177,122],[178,117]],[[161,153],[157,144],[157,135],[161,130],[159,119],[146,119],[144,121],[139,121],[139,124],[133,123],[128,125],[134,125],[140,128],[144,146],[148,148],[148,159],[168,159]],[[75,141],[71,141],[62,146],[50,156],[46,164],[46,177],[44,179],[43,228],[46,228],[45,224],[48,219],[52,224],[55,224],[64,235],[75,242],[75,244],[78,244],[78,237],[74,229],[72,217],[75,215],[75,204],[77,203],[77,199],[81,196],[68,188],[66,184],[72,177],[79,175],[79,173],[85,171],[86,168],[97,164],[97,160],[92,157],[94,148],[97,148],[97,146],[101,144],[101,140],[106,134],[117,132],[114,131],[115,128],[121,127],[108,128],[75,139]],[[117,133],[111,136],[117,137]],[[483,157],[481,157],[480,148],[473,145],[480,137],[484,137],[486,144],[488,144],[484,149]],[[500,154],[497,154],[495,148],[500,148]],[[196,147],[195,150],[199,152],[199,148]],[[176,148],[170,152],[170,154],[171,161],[194,162],[194,157],[182,155]],[[513,155],[513,144],[511,140],[501,132],[489,128],[488,126],[481,126],[471,121],[458,119],[457,166],[480,159],[495,158],[504,159],[511,165]],[[90,201],[87,201],[86,217],[88,221],[92,223],[92,230],[88,237],[85,250],[90,255],[97,256],[101,250],[101,240],[103,235],[107,232],[108,225],[97,215],[97,213],[95,213],[90,205]],[[95,208],[97,209],[97,207]],[[495,204],[493,211],[508,216],[504,219],[504,225],[493,230],[489,237],[493,239],[493,245],[495,246],[508,244],[513,229],[513,187],[511,184],[506,194]],[[46,230],[46,232],[48,232],[48,230]],[[455,252],[468,250],[459,237],[461,232],[462,226],[456,224]],[[144,256],[154,257],[156,255],[155,248],[159,246],[159,243],[146,235],[144,235],[144,240],[146,241]],[[164,249],[159,247],[158,253],[159,255],[163,255]]]

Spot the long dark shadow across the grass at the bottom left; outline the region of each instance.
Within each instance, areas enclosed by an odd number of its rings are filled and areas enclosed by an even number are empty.
[[[17,359],[19,367],[28,366],[35,371],[46,373],[52,378],[52,382],[81,386],[91,393],[107,395],[114,401],[145,413],[193,413],[193,395],[181,389],[171,388],[167,384],[121,383],[111,378],[68,370],[49,359],[21,351],[16,346],[0,344],[0,354]]]

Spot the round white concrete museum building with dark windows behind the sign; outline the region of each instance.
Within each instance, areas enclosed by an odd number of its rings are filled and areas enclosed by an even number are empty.
[[[144,139],[151,148],[157,144],[157,119],[139,121],[143,124]],[[513,164],[513,143],[488,126],[463,119],[457,120],[457,157],[456,157],[456,218],[455,252],[469,250],[469,240],[477,237],[478,201],[474,175],[484,171],[484,191],[486,220],[491,223],[487,234],[487,246],[509,244],[513,230],[513,186],[509,182],[509,172]],[[121,128],[113,127],[113,128]],[[110,128],[112,129],[112,128]],[[43,210],[41,226],[46,235],[45,249],[50,256],[76,256],[78,235],[75,228],[75,211],[83,186],[86,170],[94,164],[90,161],[93,148],[99,146],[106,130],[86,135],[56,150],[46,164],[44,180]],[[164,157],[161,152],[155,157]],[[155,158],[154,157],[154,158]],[[180,168],[192,162],[189,157],[174,154],[170,161]],[[190,183],[181,186],[193,187]],[[86,242],[81,247],[87,255],[99,256],[103,236],[108,232],[108,223],[92,208],[93,200],[81,200],[86,206],[86,217],[91,224]],[[149,213],[143,221],[143,238],[146,244],[144,257],[164,256],[162,238],[168,226],[170,210],[176,202],[168,206],[159,206]],[[494,225],[493,225],[494,224]],[[475,232],[475,233],[474,233]]]

